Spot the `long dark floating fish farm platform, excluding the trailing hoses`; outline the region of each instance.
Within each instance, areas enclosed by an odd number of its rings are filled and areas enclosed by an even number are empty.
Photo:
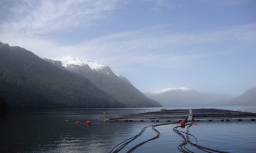
[[[175,109],[109,117],[104,121],[176,122],[176,121],[255,121],[256,113],[222,109]]]

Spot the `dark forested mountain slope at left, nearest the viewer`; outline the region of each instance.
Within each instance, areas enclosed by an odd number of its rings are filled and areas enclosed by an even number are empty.
[[[125,107],[86,77],[60,69],[24,48],[2,42],[0,96],[10,107]]]

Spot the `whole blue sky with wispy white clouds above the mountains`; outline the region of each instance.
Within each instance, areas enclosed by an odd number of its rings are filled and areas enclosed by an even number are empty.
[[[0,0],[0,41],[108,65],[141,92],[256,87],[254,0]]]

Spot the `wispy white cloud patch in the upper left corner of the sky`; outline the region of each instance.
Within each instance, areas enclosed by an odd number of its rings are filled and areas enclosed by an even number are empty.
[[[118,9],[119,1],[14,1],[12,18],[1,24],[1,31],[34,36],[51,31],[90,27]]]

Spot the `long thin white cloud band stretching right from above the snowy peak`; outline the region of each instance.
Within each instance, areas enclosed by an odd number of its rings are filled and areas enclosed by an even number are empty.
[[[255,27],[255,24],[250,24],[194,33],[165,31],[164,34],[147,28],[65,46],[35,37],[21,36],[13,41],[39,56],[80,56],[113,68],[134,64],[177,67],[218,55],[243,52],[246,47],[255,48]]]

